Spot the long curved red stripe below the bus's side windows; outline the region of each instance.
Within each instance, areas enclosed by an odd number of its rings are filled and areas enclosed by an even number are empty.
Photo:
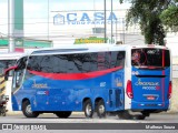
[[[88,72],[88,73],[46,73],[46,72],[38,72],[38,71],[30,71],[30,70],[29,72],[32,74],[52,79],[52,80],[86,80],[86,79],[101,76],[101,75],[111,73],[113,71],[118,71],[120,69],[122,69],[122,66],[117,66],[117,68],[102,70],[102,71]]]

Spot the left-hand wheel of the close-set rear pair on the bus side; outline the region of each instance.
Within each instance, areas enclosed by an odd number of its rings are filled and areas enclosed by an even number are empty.
[[[92,117],[93,114],[93,109],[92,109],[92,103],[90,100],[87,100],[83,104],[83,111],[86,117]]]

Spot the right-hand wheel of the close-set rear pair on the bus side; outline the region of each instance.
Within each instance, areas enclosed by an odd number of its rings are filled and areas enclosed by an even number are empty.
[[[97,114],[99,117],[106,117],[106,108],[103,100],[100,100],[97,104]]]

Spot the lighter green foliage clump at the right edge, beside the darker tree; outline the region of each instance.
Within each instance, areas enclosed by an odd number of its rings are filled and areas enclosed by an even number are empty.
[[[167,29],[178,31],[178,0],[175,0],[175,4],[171,4],[168,9],[164,10],[160,14],[160,20]]]

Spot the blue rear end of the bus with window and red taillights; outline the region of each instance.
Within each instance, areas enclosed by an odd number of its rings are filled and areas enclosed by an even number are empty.
[[[132,100],[132,108],[165,106],[170,85],[169,50],[131,50],[131,81],[127,81],[127,94]]]

